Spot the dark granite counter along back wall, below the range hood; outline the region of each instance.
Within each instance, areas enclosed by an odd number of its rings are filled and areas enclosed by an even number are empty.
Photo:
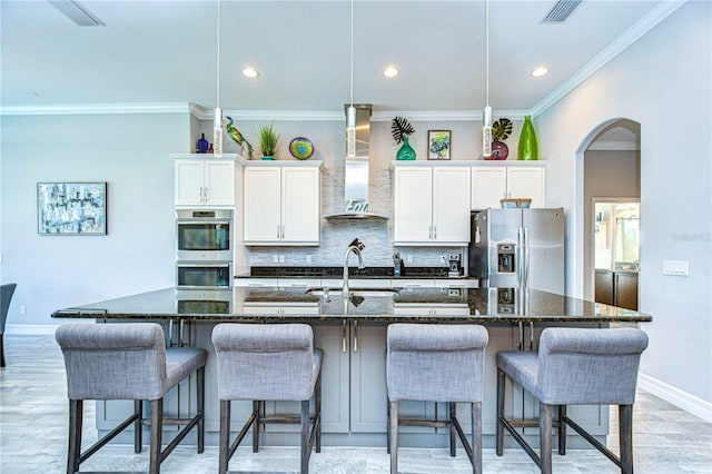
[[[343,267],[251,267],[247,274],[235,278],[343,278]],[[354,278],[468,278],[448,277],[447,267],[404,267],[400,276],[393,275],[393,267],[348,267],[348,277]]]

